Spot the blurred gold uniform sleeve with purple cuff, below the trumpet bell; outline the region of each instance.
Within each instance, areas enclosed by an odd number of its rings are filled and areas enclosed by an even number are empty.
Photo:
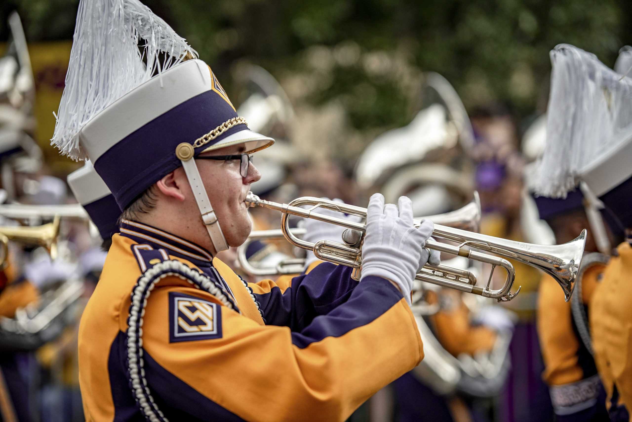
[[[588,303],[604,265],[586,268],[581,277],[581,302]],[[544,359],[544,382],[559,421],[607,420],[603,387],[592,354],[581,341],[571,301],[550,275],[543,275],[538,291],[538,337]]]

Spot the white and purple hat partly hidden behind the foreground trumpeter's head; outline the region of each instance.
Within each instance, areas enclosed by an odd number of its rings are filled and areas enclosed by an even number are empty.
[[[106,183],[95,171],[92,163],[85,165],[70,174],[66,179],[75,198],[90,216],[90,220],[99,229],[101,239],[107,240],[118,232],[118,217],[121,208]]]

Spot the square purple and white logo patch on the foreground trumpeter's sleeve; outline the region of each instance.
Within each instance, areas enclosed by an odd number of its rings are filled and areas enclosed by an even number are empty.
[[[184,293],[169,292],[169,342],[219,339],[219,305]]]

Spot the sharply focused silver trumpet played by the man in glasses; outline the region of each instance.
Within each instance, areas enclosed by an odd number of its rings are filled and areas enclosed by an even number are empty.
[[[299,248],[312,250],[314,255],[321,260],[354,268],[352,277],[357,280],[360,279],[360,270],[362,268],[362,241],[363,234],[366,231],[366,225],[364,223],[356,223],[318,214],[315,210],[317,210],[317,208],[325,208],[366,218],[367,208],[322,200],[312,196],[303,196],[293,200],[289,204],[282,204],[262,200],[252,192],[248,193],[245,202],[249,207],[265,207],[283,213],[281,216],[281,231],[283,231],[289,243]],[[305,205],[310,208],[300,208]],[[346,227],[346,229],[351,230],[344,232],[344,244],[327,240],[310,243],[297,238],[291,232],[289,228],[289,215],[297,215],[298,217],[337,224],[338,226]],[[414,224],[415,226],[419,226],[420,222],[415,221]],[[449,287],[487,298],[494,298],[499,302],[509,301],[520,292],[520,287],[518,291],[514,293],[511,292],[516,274],[513,265],[504,258],[511,258],[532,265],[551,275],[557,280],[562,291],[564,291],[564,298],[568,301],[573,293],[575,279],[581,263],[581,255],[586,243],[585,230],[573,241],[552,246],[495,238],[493,236],[478,234],[454,227],[441,226],[439,224],[435,224],[432,236],[459,243],[459,246],[439,243],[428,239],[426,243],[427,248],[489,263],[492,265],[492,272],[490,272],[489,279],[485,286],[476,286],[476,277],[466,270],[442,265],[439,267],[425,265],[420,272],[417,273],[415,279],[436,284],[437,286]],[[465,248],[465,246],[488,251],[503,256],[504,258],[473,251]],[[490,289],[495,267],[502,267],[507,272],[504,284],[501,289],[497,290]]]

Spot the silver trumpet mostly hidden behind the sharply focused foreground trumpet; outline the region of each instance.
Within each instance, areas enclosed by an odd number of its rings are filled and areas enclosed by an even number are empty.
[[[442,224],[444,226],[455,227],[467,231],[478,231],[480,226],[480,200],[478,199],[478,193],[474,192],[474,198],[470,203],[464,205],[458,210],[446,212],[444,214],[429,215],[427,217],[419,217],[420,219],[430,219],[435,224]],[[305,229],[289,229],[294,236],[303,236]],[[351,235],[350,233],[348,235]],[[282,229],[272,230],[255,230],[250,232],[248,239],[237,248],[237,263],[241,267],[241,270],[250,275],[286,275],[286,274],[300,274],[305,268],[305,258],[286,258],[278,262],[274,267],[255,267],[246,258],[246,250],[253,241],[258,240],[279,240],[284,239]],[[443,268],[445,271],[454,270],[449,267],[437,267]],[[458,276],[468,279],[473,282],[473,275],[468,271],[459,270]]]

